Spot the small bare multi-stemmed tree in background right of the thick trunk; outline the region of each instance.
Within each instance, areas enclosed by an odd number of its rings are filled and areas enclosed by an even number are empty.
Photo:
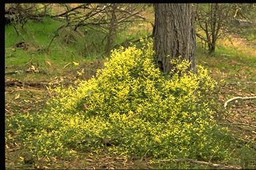
[[[197,37],[207,45],[209,54],[215,52],[216,43],[227,33],[241,34],[244,27],[253,25],[254,5],[240,3],[196,4]],[[255,9],[254,9],[255,10]]]

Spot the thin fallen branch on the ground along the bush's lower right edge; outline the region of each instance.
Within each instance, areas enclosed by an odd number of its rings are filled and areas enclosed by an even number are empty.
[[[167,162],[191,162],[191,163],[197,163],[197,164],[202,164],[202,165],[209,165],[211,167],[215,168],[227,168],[227,169],[241,169],[241,167],[236,167],[235,165],[221,165],[217,163],[211,163],[211,162],[205,162],[205,161],[197,161],[195,159],[166,159],[166,160],[161,160],[160,162],[162,163],[167,163]]]

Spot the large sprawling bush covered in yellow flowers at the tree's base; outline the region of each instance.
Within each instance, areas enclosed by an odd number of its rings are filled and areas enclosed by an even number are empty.
[[[113,50],[105,68],[77,88],[55,88],[40,113],[17,114],[17,129],[33,155],[72,155],[107,147],[112,153],[155,159],[223,159],[231,141],[213,120],[215,102],[205,98],[216,82],[198,66],[177,60],[171,78],[153,59],[153,42]],[[109,139],[107,145],[102,139]]]

